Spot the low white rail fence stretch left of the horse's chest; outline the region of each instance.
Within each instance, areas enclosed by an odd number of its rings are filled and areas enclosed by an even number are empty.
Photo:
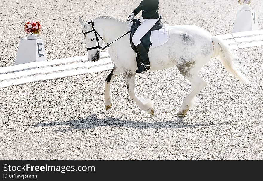
[[[111,58],[109,58],[108,52],[102,52],[101,58],[102,60],[100,61],[90,62],[87,60],[87,56],[76,56],[1,67],[0,88],[29,82],[101,72],[113,68],[114,64]]]

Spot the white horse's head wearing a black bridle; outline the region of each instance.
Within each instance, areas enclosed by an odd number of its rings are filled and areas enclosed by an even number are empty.
[[[99,51],[103,40],[100,35],[96,33],[93,20],[84,23],[82,17],[79,16],[79,22],[82,26],[82,37],[88,50],[88,60],[97,61],[100,59]]]

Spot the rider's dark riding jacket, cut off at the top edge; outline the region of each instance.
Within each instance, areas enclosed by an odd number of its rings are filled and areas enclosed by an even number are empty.
[[[159,0],[142,0],[140,5],[132,11],[134,15],[143,10],[143,19],[157,19],[159,18]]]

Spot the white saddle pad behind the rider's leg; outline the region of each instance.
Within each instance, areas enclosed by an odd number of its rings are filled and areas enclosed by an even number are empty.
[[[169,40],[169,24],[164,24],[162,29],[151,32],[151,43],[150,49],[156,48],[163,45]]]

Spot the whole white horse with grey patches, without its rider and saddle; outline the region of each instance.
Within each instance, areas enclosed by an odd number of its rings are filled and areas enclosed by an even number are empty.
[[[97,46],[105,43],[111,43],[131,29],[131,22],[114,18],[114,17],[98,17],[89,22],[84,22],[79,17],[83,32],[89,32],[84,35],[85,43],[88,48],[88,60],[97,61],[100,58],[100,48]],[[99,37],[96,42],[95,32]],[[222,40],[212,37],[206,30],[195,25],[178,25],[170,26],[170,38],[167,43],[162,46],[150,49],[149,60],[150,70],[162,70],[176,66],[181,74],[191,81],[191,92],[183,100],[181,109],[177,116],[185,116],[190,107],[195,103],[195,96],[205,86],[207,82],[200,77],[201,68],[214,57],[219,56],[224,67],[228,72],[233,74],[238,80],[244,83],[250,83],[247,77],[242,73],[243,69],[234,61],[235,57],[232,51],[223,43]],[[105,81],[105,107],[106,110],[112,106],[110,93],[110,84],[115,77],[123,72],[125,82],[127,84],[129,96],[144,111],[155,115],[155,108],[150,100],[143,100],[136,96],[134,92],[135,86],[135,70],[137,70],[136,54],[130,45],[130,36],[126,35],[117,40],[109,47],[109,55],[114,62],[114,67]]]

